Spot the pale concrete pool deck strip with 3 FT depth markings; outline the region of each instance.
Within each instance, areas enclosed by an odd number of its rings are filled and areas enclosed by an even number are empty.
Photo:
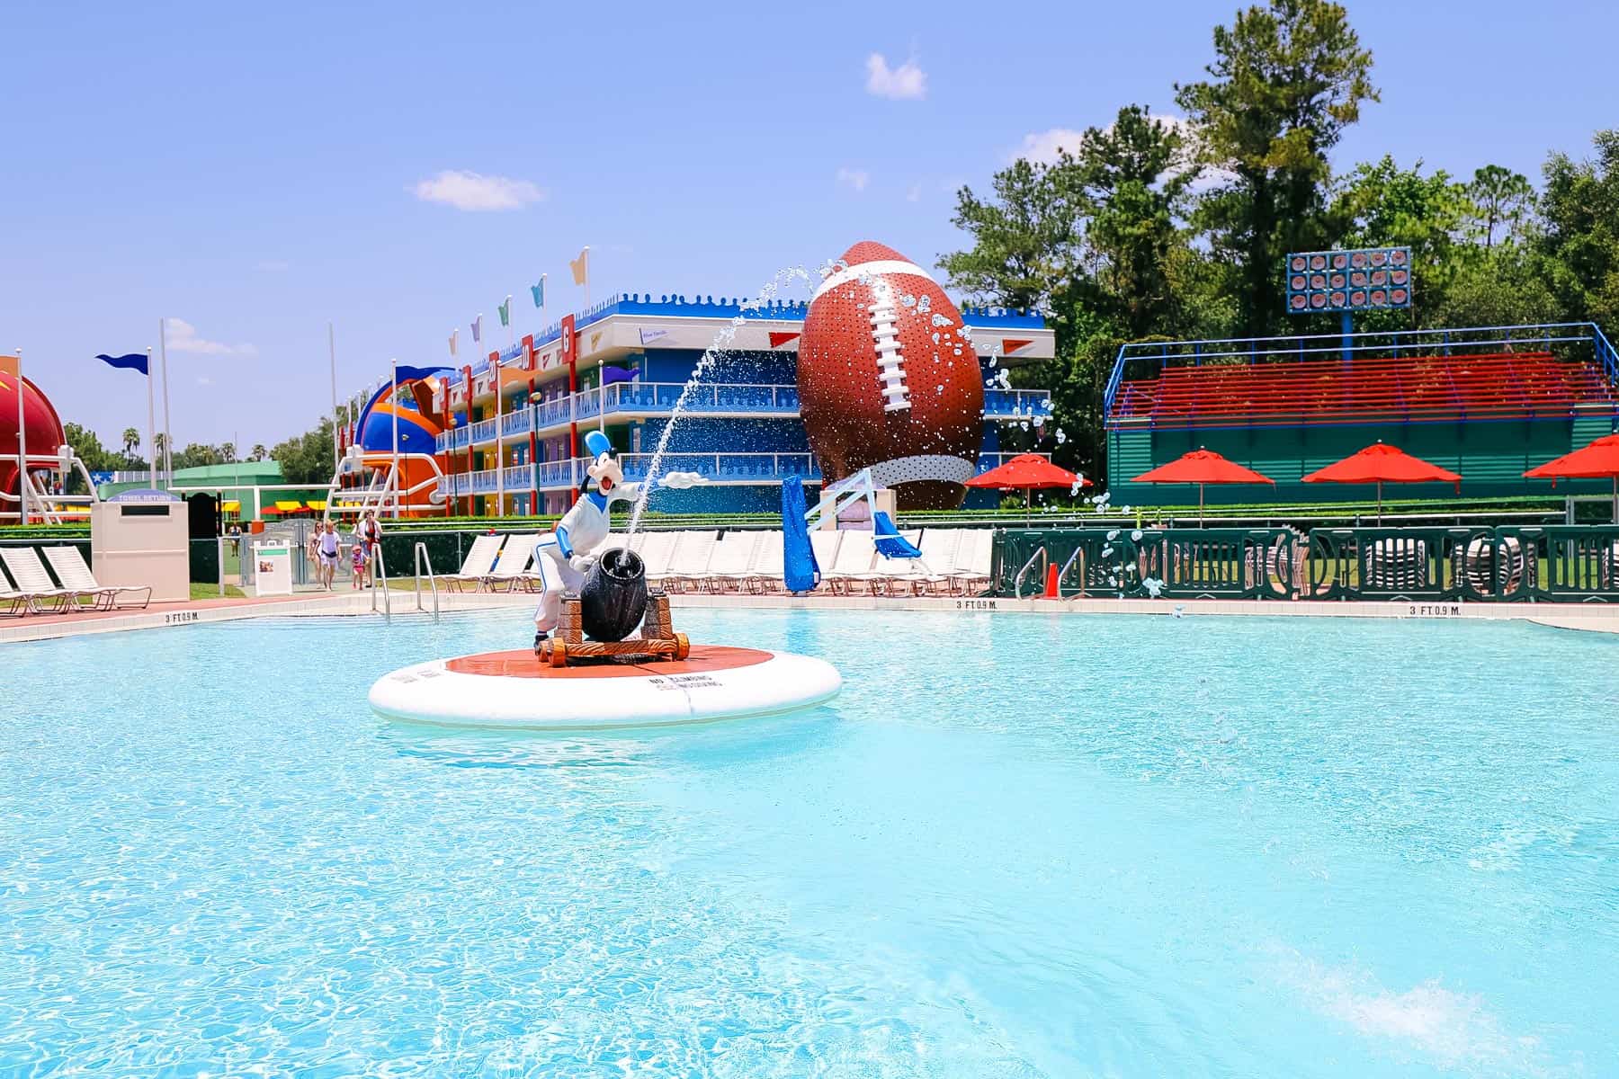
[[[727,607],[771,610],[926,610],[999,615],[1010,611],[1039,615],[1158,615],[1198,618],[1208,615],[1258,615],[1263,618],[1485,618],[1525,620],[1559,629],[1587,629],[1619,634],[1619,605],[1611,603],[1462,603],[1462,602],[1310,602],[1310,600],[1119,600],[1119,599],[994,599],[950,595],[670,595],[674,607]],[[529,592],[440,592],[442,611],[491,608],[533,608]],[[374,618],[369,592],[301,592],[275,597],[235,597],[152,603],[146,610],[89,611],[66,615],[28,615],[0,618],[0,644],[47,641],[126,629],[167,629],[240,618],[287,616],[366,616]],[[416,594],[393,594],[395,618],[421,618]]]

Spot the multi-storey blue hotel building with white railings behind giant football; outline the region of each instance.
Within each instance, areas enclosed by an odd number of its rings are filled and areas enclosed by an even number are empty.
[[[560,513],[584,482],[580,438],[599,429],[628,480],[648,474],[665,435],[659,471],[709,480],[654,492],[656,511],[777,510],[782,479],[821,479],[798,416],[797,340],[806,307],[625,293],[510,340],[434,388],[429,411],[447,429],[437,440],[442,493],[471,516]],[[1052,356],[1052,332],[1039,315],[962,314],[984,358],[986,385],[996,367]],[[991,387],[984,398],[979,471],[1001,463],[1004,424],[1044,421],[1051,409],[1038,390]]]

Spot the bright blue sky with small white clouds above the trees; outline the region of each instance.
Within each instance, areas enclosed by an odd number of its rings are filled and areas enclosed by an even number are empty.
[[[329,319],[348,393],[508,293],[538,328],[541,272],[547,322],[581,306],[584,244],[594,298],[751,294],[861,238],[931,264],[958,184],[1124,104],[1174,112],[1235,5],[233,8],[0,6],[0,351],[108,443],[144,387],[91,358],[155,346],[160,317],[176,443],[246,451],[327,408]],[[1350,16],[1383,104],[1341,165],[1536,178],[1619,123],[1606,5]]]

